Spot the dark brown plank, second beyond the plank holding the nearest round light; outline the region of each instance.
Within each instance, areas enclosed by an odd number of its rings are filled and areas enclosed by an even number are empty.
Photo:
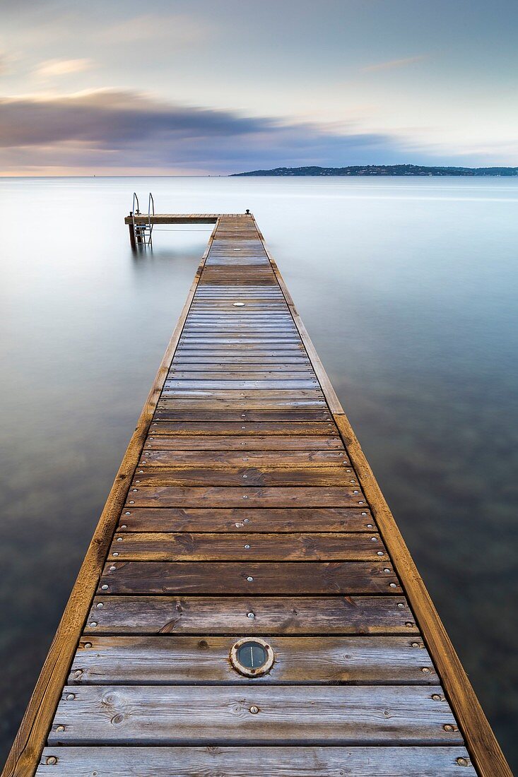
[[[401,594],[401,586],[387,561],[118,563],[114,560],[107,562],[100,579],[98,593],[104,591],[107,594],[350,595]]]

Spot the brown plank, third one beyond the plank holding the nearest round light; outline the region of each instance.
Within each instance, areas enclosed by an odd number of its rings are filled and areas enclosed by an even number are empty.
[[[371,534],[116,533],[118,561],[380,561],[387,552]]]

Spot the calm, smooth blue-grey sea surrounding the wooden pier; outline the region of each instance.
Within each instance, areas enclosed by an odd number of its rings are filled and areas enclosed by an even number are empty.
[[[209,229],[132,256],[131,195],[250,208],[518,764],[518,180],[0,179],[7,748]],[[3,761],[3,758],[0,758]]]

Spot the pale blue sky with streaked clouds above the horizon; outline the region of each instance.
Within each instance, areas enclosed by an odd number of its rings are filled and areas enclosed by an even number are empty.
[[[0,0],[0,175],[518,166],[516,0]]]

